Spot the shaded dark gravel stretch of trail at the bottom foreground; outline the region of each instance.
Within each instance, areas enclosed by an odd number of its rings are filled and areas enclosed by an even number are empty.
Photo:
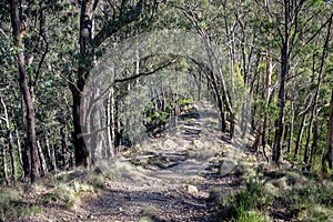
[[[103,220],[105,214],[114,221],[123,219],[140,221],[148,216],[153,221],[212,221],[208,202],[183,190],[124,191],[110,190],[102,198],[90,202],[94,218]],[[110,218],[108,218],[110,219]]]

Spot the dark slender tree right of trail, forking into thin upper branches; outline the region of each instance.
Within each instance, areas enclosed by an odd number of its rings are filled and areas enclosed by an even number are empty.
[[[272,11],[272,8],[268,3],[262,1],[255,1],[256,4],[262,8],[270,19],[276,18],[276,14],[281,14],[280,19],[276,20],[278,24],[273,28],[269,28],[268,31],[273,33],[273,38],[280,48],[280,87],[279,87],[279,118],[275,121],[275,138],[272,149],[272,160],[275,164],[280,165],[283,160],[283,147],[284,147],[284,130],[285,130],[285,102],[286,102],[286,85],[290,71],[290,60],[295,56],[295,46],[300,42],[300,37],[304,34],[304,28],[300,29],[301,21],[300,14],[304,12],[305,0],[291,1],[283,0],[276,2],[280,11]],[[311,21],[315,17],[309,17],[307,21]],[[264,23],[264,22],[263,22]],[[306,26],[304,26],[306,27]],[[314,36],[315,37],[315,36]],[[313,37],[310,37],[305,44],[307,44]]]

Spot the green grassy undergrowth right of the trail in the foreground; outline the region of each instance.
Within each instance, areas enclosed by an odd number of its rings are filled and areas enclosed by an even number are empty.
[[[231,192],[213,189],[219,221],[332,221],[333,183],[301,171],[265,168]],[[221,194],[216,193],[220,192]],[[234,212],[234,213],[230,213]]]

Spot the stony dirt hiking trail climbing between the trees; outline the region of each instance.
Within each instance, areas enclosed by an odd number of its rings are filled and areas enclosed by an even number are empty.
[[[168,123],[163,137],[143,141],[131,157],[101,164],[101,173],[113,168],[120,176],[108,179],[100,193],[84,195],[72,209],[46,206],[46,213],[29,220],[219,221],[211,190],[228,193],[241,179],[220,173],[221,157],[231,145],[221,140],[215,109],[201,101],[192,105],[193,112]]]

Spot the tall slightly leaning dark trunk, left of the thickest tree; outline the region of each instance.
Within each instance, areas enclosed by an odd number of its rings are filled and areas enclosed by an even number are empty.
[[[19,7],[16,0],[10,0],[10,13],[11,13],[11,26],[12,26],[12,36],[14,38],[14,44],[19,49],[24,49],[21,34],[20,34],[21,21],[19,17]],[[17,56],[17,63],[19,70],[20,89],[27,108],[28,147],[30,149],[30,164],[31,164],[30,180],[33,183],[39,176],[37,172],[37,140],[36,140],[34,108],[33,108],[32,95],[30,93],[28,80],[27,80],[24,52],[19,51],[16,56]]]

